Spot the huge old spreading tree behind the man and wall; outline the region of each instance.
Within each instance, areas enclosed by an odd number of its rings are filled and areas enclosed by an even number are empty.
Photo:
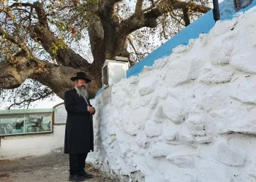
[[[171,34],[166,28],[178,27],[177,33],[190,20],[208,12],[211,8],[206,5],[208,1],[0,0],[0,93],[22,93],[23,99],[13,100],[12,106],[27,105],[53,92],[64,98],[64,92],[73,87],[69,78],[85,71],[92,80],[89,94],[93,97],[102,87],[105,59],[124,56],[133,64],[150,53],[136,50],[136,39],[140,46],[140,36],[146,34],[138,30],[156,31],[161,25],[158,33],[168,38]],[[86,35],[91,60],[78,54],[80,40]],[[30,86],[23,85],[27,79],[31,79]],[[33,99],[25,97],[33,94]],[[6,96],[10,98],[10,93]]]

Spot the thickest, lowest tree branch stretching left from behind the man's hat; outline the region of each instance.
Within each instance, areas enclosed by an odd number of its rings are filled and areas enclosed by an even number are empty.
[[[50,87],[60,98],[64,98],[64,92],[74,87],[70,78],[80,71],[67,66],[56,66],[22,54],[16,54],[13,57],[15,61],[0,62],[0,89],[14,89],[20,87],[26,79],[34,79]],[[89,94],[94,96],[101,83],[97,81],[94,74],[89,72],[86,74],[92,80]]]

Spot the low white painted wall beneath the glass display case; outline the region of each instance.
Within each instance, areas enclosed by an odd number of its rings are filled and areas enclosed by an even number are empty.
[[[13,135],[1,138],[0,159],[49,154],[64,147],[65,125],[54,125],[53,133]]]

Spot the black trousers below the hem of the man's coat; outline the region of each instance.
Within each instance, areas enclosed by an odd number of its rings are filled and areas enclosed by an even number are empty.
[[[84,170],[87,154],[69,154],[70,175],[76,175]]]

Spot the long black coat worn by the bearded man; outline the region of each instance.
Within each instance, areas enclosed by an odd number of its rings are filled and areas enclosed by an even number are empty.
[[[64,104],[67,110],[64,153],[83,154],[94,151],[92,116],[86,100],[73,89],[65,92]]]

